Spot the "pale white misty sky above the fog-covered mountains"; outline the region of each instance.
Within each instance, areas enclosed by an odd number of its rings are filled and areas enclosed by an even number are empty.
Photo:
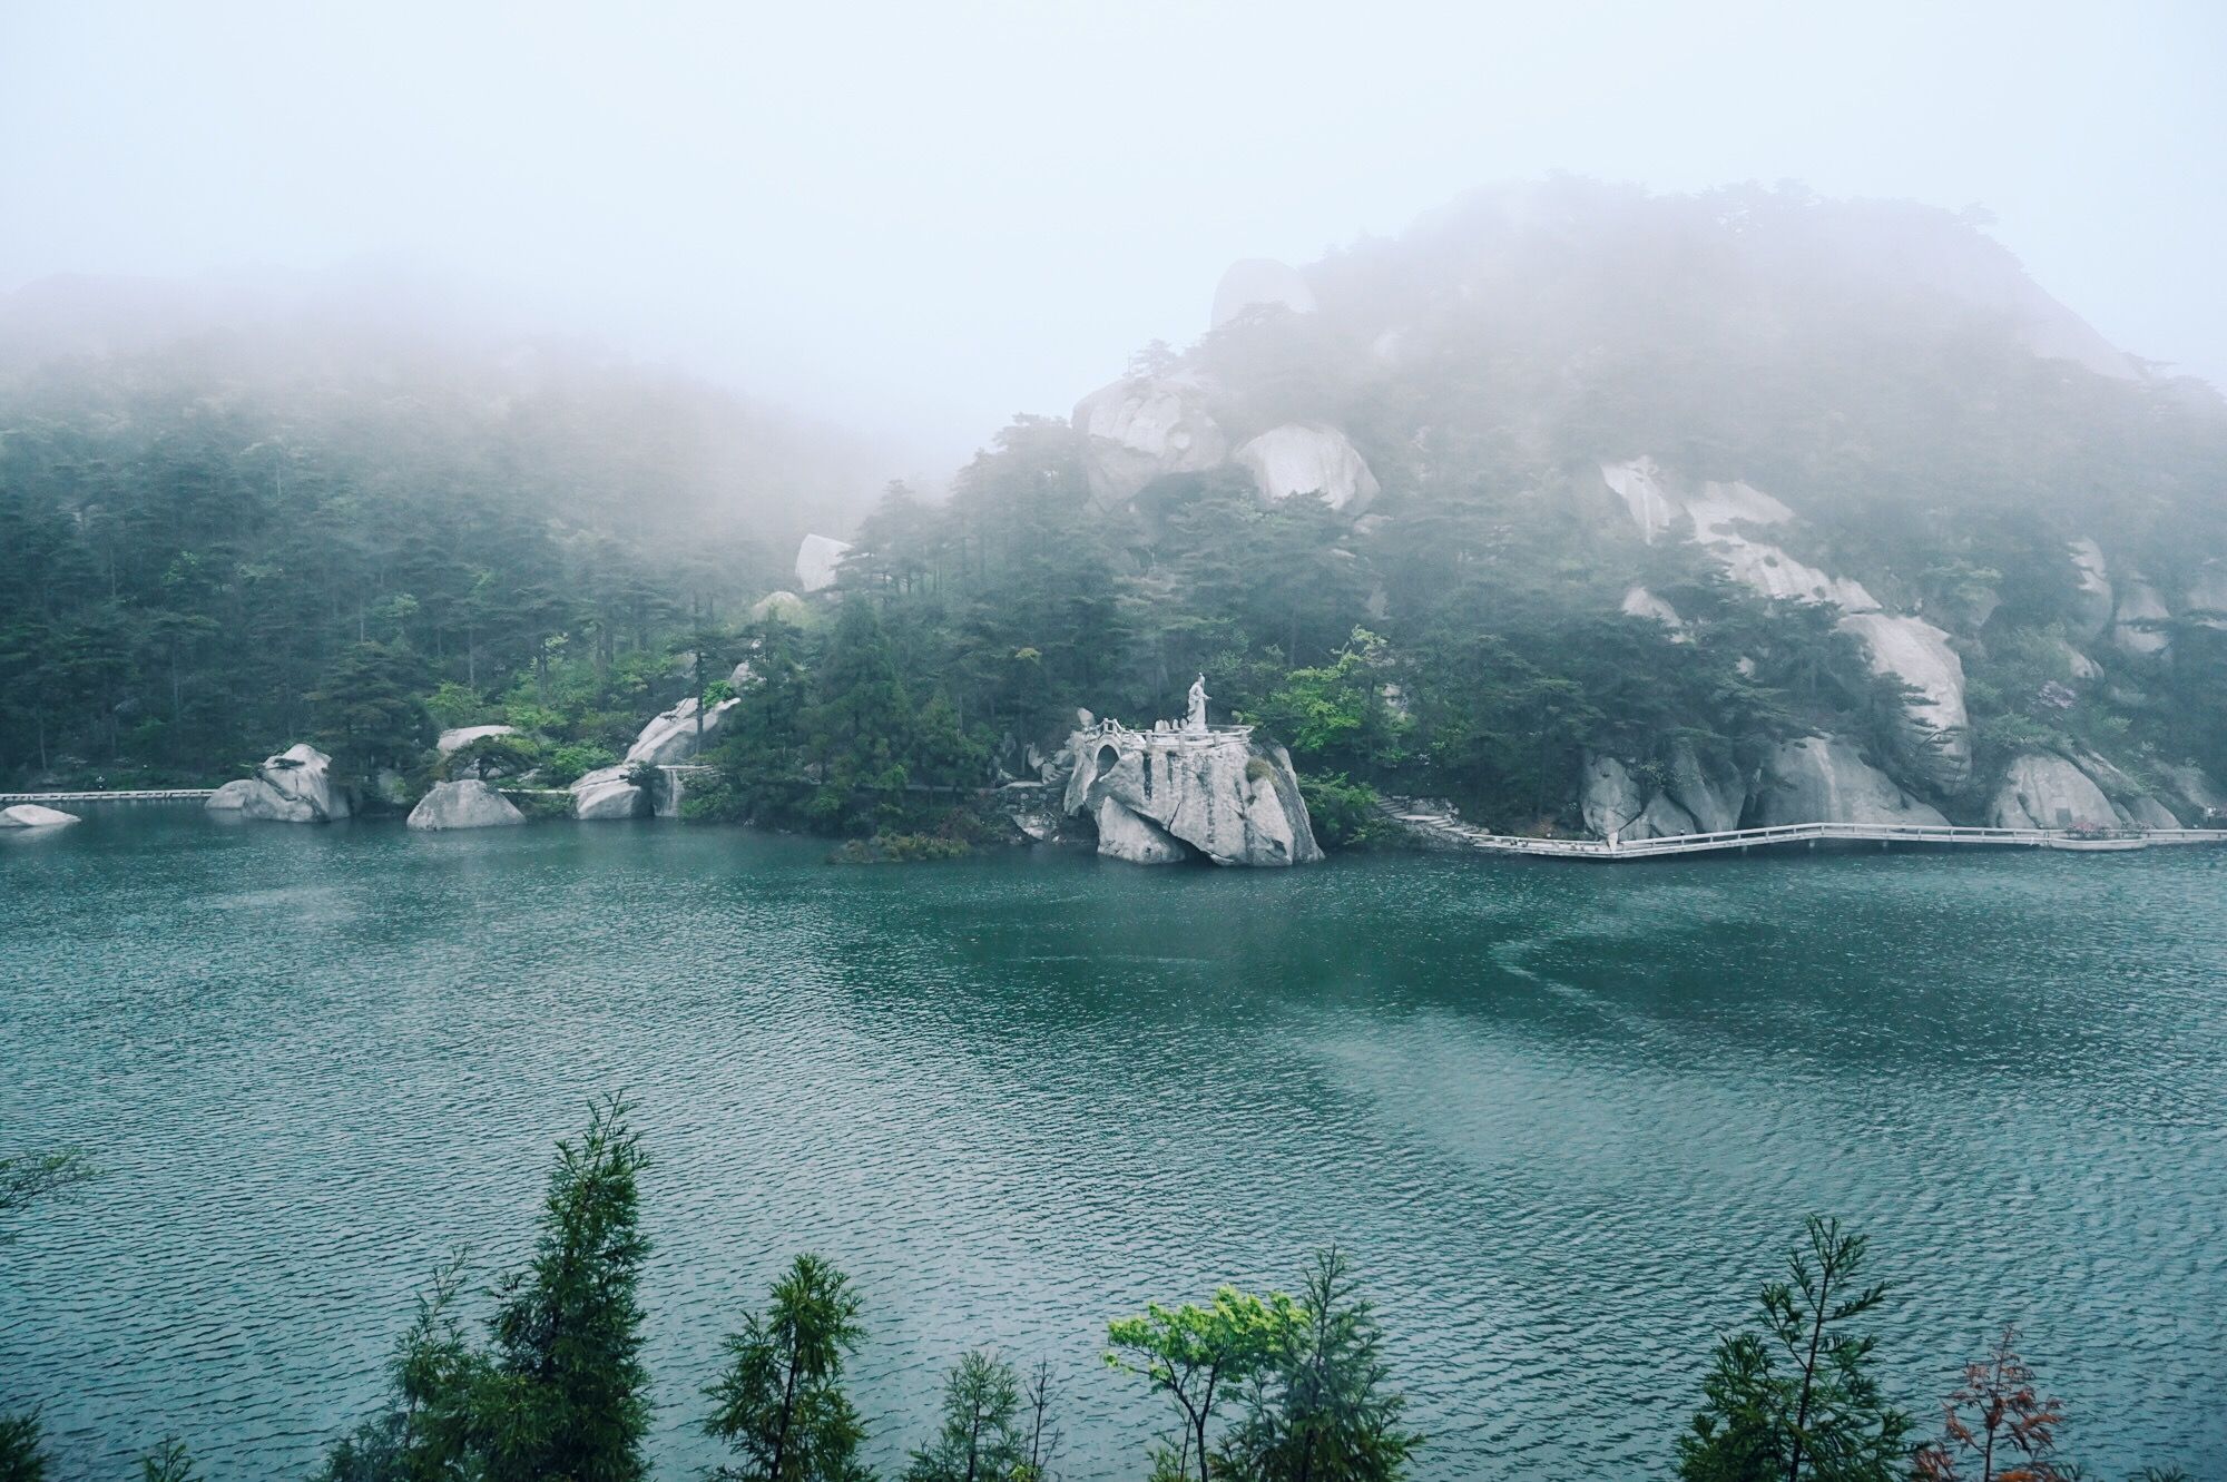
[[[0,289],[365,263],[958,456],[1552,169],[1995,211],[2227,385],[2227,4],[0,0]]]

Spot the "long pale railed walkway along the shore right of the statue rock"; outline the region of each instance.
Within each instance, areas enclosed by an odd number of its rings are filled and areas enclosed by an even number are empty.
[[[1984,846],[2073,852],[2122,852],[2162,843],[2227,843],[2227,828],[1960,828],[1953,823],[1777,823],[1773,828],[1728,828],[1715,834],[1672,834],[1668,839],[1525,839],[1492,834],[1443,806],[1407,797],[1387,797],[1376,810],[1423,843],[1441,848],[1483,850],[1488,854],[1546,854],[1552,859],[1664,859],[1668,854],[1724,854],[1788,843],[1895,843]]]

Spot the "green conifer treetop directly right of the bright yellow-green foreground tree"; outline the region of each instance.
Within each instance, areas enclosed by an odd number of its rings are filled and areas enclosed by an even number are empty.
[[[1243,1482],[1399,1482],[1423,1437],[1401,1426],[1383,1333],[1336,1248],[1318,1251],[1296,1320],[1276,1331],[1245,1389],[1216,1471]]]

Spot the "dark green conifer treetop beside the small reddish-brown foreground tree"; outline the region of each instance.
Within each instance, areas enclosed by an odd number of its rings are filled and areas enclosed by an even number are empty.
[[[1873,1337],[1848,1324],[1886,1300],[1857,1286],[1866,1242],[1837,1219],[1804,1226],[1791,1282],[1764,1286],[1764,1328],[1717,1344],[1701,1411],[1677,1442],[1684,1482],[1900,1482],[1911,1420],[1873,1373]]]

